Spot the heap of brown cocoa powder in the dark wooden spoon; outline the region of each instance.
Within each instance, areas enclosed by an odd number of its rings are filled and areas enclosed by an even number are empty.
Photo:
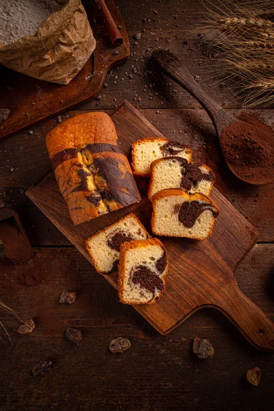
[[[242,113],[221,133],[225,160],[243,179],[274,176],[274,132],[256,116]]]

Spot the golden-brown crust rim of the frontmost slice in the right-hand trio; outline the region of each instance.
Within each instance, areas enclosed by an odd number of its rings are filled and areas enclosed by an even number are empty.
[[[200,192],[195,192],[195,194],[193,195],[188,195],[187,192],[185,192],[184,190],[178,190],[178,189],[173,189],[173,188],[168,188],[166,190],[160,190],[158,192],[155,192],[155,195],[153,195],[151,201],[152,201],[152,206],[153,206],[153,212],[151,214],[151,230],[154,234],[158,235],[158,236],[166,236],[166,234],[162,233],[162,232],[158,232],[157,229],[155,229],[155,212],[154,212],[154,206],[155,203],[162,199],[163,197],[173,197],[173,196],[179,196],[179,197],[183,197],[184,199],[186,199],[186,201],[191,200],[203,200],[206,201],[208,203],[210,203],[214,208],[216,208],[217,212],[219,212],[219,207],[216,205],[215,201],[213,201],[212,199],[210,199],[209,197],[207,197],[206,195],[201,194]],[[210,231],[208,233],[208,236],[203,237],[203,238],[195,238],[193,236],[171,236],[169,235],[168,237],[184,237],[184,238],[192,238],[194,240],[206,240],[206,238],[210,237],[212,234],[212,229],[214,226],[214,219],[212,221],[212,225],[210,227]]]

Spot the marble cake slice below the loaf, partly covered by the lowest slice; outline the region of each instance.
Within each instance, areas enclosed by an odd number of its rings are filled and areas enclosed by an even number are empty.
[[[123,242],[150,238],[145,227],[134,214],[102,229],[86,240],[86,249],[92,264],[100,274],[118,271],[120,248]]]

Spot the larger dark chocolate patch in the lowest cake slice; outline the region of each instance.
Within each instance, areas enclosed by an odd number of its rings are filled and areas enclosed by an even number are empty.
[[[141,288],[145,288],[155,295],[155,290],[162,291],[163,283],[162,279],[158,275],[154,274],[149,267],[140,265],[132,268],[130,273],[133,284],[138,284]]]

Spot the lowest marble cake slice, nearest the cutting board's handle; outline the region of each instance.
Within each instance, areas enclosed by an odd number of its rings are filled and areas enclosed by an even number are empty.
[[[119,264],[119,298],[124,304],[155,303],[166,286],[166,249],[157,238],[124,242]]]

